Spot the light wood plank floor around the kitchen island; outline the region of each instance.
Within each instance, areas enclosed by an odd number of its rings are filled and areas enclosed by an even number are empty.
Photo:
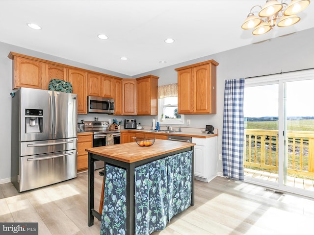
[[[102,178],[97,174],[97,195]],[[98,207],[99,198],[96,199]],[[286,235],[313,231],[314,200],[216,177],[195,181],[195,205],[153,235]],[[73,180],[18,193],[0,185],[0,222],[38,222],[39,235],[99,235],[95,218],[87,226],[87,173]]]

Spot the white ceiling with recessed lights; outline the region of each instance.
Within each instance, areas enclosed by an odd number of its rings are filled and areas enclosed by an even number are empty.
[[[311,3],[292,26],[260,36],[241,29],[251,7],[265,2],[1,0],[0,42],[133,76],[314,27]],[[167,38],[175,42],[166,44]]]

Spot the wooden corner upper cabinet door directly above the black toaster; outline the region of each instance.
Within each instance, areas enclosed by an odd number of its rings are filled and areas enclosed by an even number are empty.
[[[136,115],[136,80],[122,80],[122,115]]]

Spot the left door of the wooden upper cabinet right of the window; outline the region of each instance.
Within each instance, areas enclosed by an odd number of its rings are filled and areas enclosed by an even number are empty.
[[[178,113],[193,113],[192,69],[178,71]]]

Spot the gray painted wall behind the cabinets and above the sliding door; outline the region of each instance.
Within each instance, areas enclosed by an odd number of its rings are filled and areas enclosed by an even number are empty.
[[[253,35],[252,35],[253,37]],[[289,34],[276,39],[266,40],[261,43],[239,47],[221,53],[209,55],[192,61],[186,61],[175,66],[169,66],[156,71],[138,74],[134,77],[153,74],[159,76],[158,85],[166,85],[177,82],[177,72],[175,68],[190,65],[205,60],[214,59],[219,63],[217,67],[217,114],[215,115],[186,115],[185,119],[191,119],[189,127],[203,128],[205,125],[213,125],[219,129],[218,153],[222,150],[222,121],[223,121],[223,101],[225,80],[259,76],[280,71],[295,71],[314,68],[314,28],[298,33]],[[213,45],[214,47],[215,45]],[[14,47],[12,45],[0,43],[0,100],[1,100],[1,136],[0,136],[0,183],[9,181],[10,178],[10,146],[11,146],[11,96],[12,91],[12,63],[7,58],[10,51],[26,54],[42,59],[47,59],[80,68],[104,72],[110,75],[125,77],[112,71],[106,71],[91,66],[82,65],[73,61],[53,57],[47,54],[27,50],[25,48]],[[261,78],[262,79],[262,78]],[[93,120],[93,115],[79,115],[78,120]],[[103,115],[99,118],[131,118],[112,117]],[[142,125],[151,125],[151,116],[137,116],[138,122]],[[184,126],[183,126],[184,127]],[[185,126],[187,127],[187,126]],[[222,171],[222,164],[219,161],[218,171]]]

